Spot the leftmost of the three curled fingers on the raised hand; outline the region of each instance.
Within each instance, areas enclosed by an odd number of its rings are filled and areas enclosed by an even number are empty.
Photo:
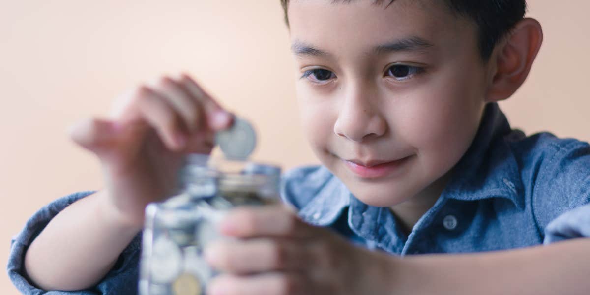
[[[146,86],[139,87],[136,100],[140,115],[156,129],[165,145],[171,150],[183,149],[187,141],[186,126],[168,101]]]

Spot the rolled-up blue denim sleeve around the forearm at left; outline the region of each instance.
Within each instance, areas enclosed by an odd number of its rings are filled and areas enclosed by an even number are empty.
[[[90,295],[90,294],[137,294],[138,266],[141,245],[141,233],[120,255],[115,266],[99,284],[87,290],[79,291],[44,291],[35,287],[26,277],[24,271],[24,256],[28,246],[38,234],[47,226],[55,215],[65,207],[93,194],[94,192],[77,192],[57,199],[28,219],[25,227],[11,241],[8,258],[8,276],[22,294],[50,294],[50,295]]]

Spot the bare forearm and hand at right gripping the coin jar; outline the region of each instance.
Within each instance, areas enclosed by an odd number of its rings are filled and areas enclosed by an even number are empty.
[[[212,294],[588,294],[590,239],[474,254],[398,257],[355,247],[281,208],[240,208],[205,257]],[[241,239],[241,240],[240,240]],[[254,275],[253,275],[254,274]]]

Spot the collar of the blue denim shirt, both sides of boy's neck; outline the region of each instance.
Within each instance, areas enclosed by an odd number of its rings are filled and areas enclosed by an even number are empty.
[[[477,135],[451,171],[451,179],[442,196],[464,201],[506,198],[522,209],[524,200],[519,196],[522,195],[523,184],[516,159],[506,140],[521,136],[522,132],[510,128],[497,103],[487,104]],[[321,169],[327,172],[327,168]],[[329,174],[329,180],[316,197],[299,212],[301,218],[312,224],[332,224],[355,198],[336,176]]]

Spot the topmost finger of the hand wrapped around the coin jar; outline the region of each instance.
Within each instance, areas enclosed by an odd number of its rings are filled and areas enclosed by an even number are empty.
[[[301,221],[293,211],[283,207],[241,207],[229,212],[219,229],[225,235],[238,238],[263,236],[309,238],[316,229]]]

